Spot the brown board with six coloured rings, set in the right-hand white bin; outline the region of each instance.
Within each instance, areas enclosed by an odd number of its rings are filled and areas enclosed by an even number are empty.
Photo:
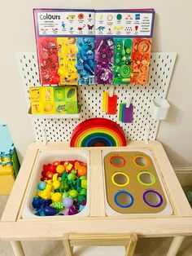
[[[118,214],[172,214],[150,152],[104,152],[107,204]]]

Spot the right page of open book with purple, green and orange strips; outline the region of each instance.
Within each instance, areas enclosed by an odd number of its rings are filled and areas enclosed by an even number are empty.
[[[154,15],[153,9],[95,12],[96,83],[148,83]]]

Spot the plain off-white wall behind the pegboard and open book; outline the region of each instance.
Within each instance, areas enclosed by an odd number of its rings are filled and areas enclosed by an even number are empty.
[[[2,4],[3,2],[3,4]],[[11,6],[11,7],[10,7]],[[146,8],[156,11],[152,51],[176,51],[177,63],[168,91],[172,104],[158,138],[173,166],[192,166],[192,1],[191,0],[17,0],[1,1],[0,115],[7,121],[20,159],[33,142],[24,90],[15,60],[18,51],[36,51],[33,7]]]

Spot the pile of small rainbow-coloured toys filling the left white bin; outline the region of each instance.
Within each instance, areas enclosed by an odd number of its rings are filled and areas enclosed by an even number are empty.
[[[54,161],[43,165],[37,196],[33,197],[38,216],[74,215],[84,210],[87,167],[81,161]]]

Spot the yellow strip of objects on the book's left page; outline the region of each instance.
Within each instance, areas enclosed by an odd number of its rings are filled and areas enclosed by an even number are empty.
[[[59,46],[59,76],[64,85],[77,85],[79,74],[76,70],[76,38],[57,38]]]

